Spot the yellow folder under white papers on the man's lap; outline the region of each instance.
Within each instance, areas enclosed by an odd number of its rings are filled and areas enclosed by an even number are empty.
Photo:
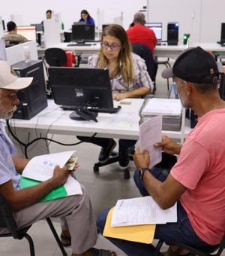
[[[111,227],[113,209],[107,216],[107,222],[104,228],[104,236],[109,236],[117,239],[124,239],[133,242],[151,243],[154,238],[155,224],[136,225],[126,227]]]

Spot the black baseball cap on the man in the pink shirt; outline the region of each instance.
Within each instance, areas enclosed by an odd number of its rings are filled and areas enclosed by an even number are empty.
[[[184,50],[175,60],[172,68],[164,69],[163,78],[173,76],[196,84],[214,84],[219,75],[217,62],[211,53],[201,47]]]

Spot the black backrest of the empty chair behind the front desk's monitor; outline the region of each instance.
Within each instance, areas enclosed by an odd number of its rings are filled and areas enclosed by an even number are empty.
[[[68,58],[61,48],[48,48],[45,50],[45,59],[49,66],[65,66]]]

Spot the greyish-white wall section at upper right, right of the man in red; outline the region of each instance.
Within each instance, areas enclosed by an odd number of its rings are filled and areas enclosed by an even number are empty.
[[[190,33],[193,42],[215,43],[220,40],[221,23],[225,23],[224,0],[147,0],[148,20],[163,22],[163,40],[167,23],[179,22],[179,39]]]

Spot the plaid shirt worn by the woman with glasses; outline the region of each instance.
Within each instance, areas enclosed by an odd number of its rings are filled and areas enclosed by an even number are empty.
[[[121,74],[115,78],[110,79],[113,93],[124,93],[127,90],[134,90],[139,87],[147,87],[153,90],[153,84],[151,78],[148,75],[147,68],[145,65],[145,60],[138,55],[131,53],[133,59],[133,69],[135,73],[135,79],[133,83],[124,84]],[[98,67],[99,55],[95,53],[93,56],[89,57],[89,66],[92,68]],[[122,63],[121,63],[122,65]],[[106,66],[107,68],[107,66]]]

